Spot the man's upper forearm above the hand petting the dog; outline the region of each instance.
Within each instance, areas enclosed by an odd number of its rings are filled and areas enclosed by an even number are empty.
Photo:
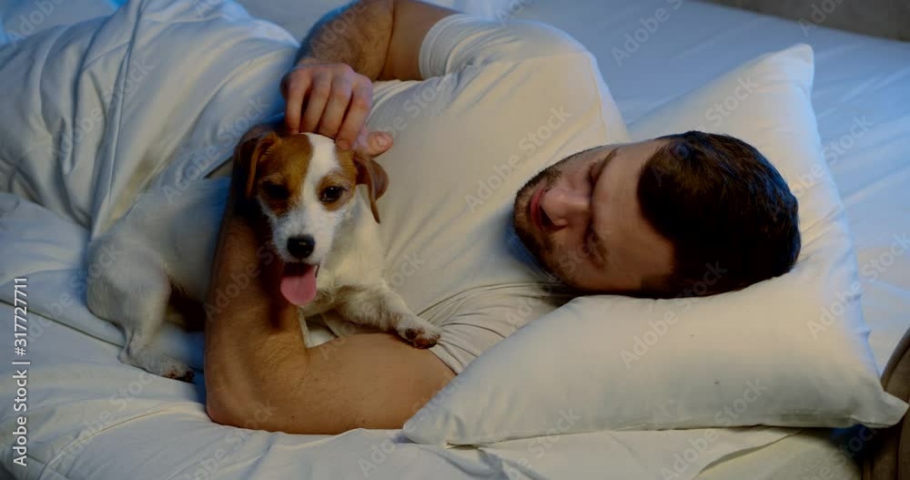
[[[327,15],[303,40],[298,65],[343,63],[377,80],[389,54],[393,18],[393,0],[359,0]]]

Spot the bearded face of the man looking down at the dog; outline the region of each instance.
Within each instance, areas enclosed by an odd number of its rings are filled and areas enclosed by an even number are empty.
[[[640,291],[672,272],[672,243],[642,217],[642,167],[662,140],[591,148],[531,179],[515,199],[519,238],[567,285]],[[647,172],[644,172],[647,175]]]

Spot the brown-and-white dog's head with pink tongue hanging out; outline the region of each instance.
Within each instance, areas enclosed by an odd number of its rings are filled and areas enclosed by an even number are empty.
[[[268,218],[272,247],[285,264],[281,291],[302,305],[316,295],[316,274],[339,225],[365,185],[373,218],[389,178],[369,156],[340,150],[312,133],[279,136],[273,131],[243,139],[235,150],[236,191],[255,201]]]

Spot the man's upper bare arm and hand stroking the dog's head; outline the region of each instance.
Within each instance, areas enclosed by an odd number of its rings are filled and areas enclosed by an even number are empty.
[[[281,81],[290,133],[315,131],[336,138],[340,148],[372,146],[379,138],[389,144],[363,128],[372,81],[421,79],[423,37],[454,13],[417,0],[360,0],[320,22]]]

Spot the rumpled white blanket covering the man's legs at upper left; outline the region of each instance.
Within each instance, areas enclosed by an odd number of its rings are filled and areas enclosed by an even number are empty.
[[[96,235],[152,179],[180,191],[280,112],[297,46],[233,2],[132,2],[8,44],[4,189]]]

